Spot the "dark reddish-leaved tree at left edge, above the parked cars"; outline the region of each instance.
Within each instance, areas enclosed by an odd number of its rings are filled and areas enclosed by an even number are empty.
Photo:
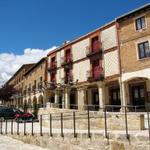
[[[4,103],[7,103],[11,100],[11,97],[17,93],[18,91],[13,85],[5,84],[0,88],[0,100],[2,100]]]

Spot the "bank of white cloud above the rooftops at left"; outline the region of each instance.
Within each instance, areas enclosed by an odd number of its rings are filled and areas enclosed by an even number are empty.
[[[0,53],[0,85],[5,83],[23,64],[36,63],[56,46],[49,49],[26,48],[22,55]]]

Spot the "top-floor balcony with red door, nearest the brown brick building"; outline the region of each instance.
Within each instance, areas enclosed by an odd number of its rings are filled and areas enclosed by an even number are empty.
[[[102,44],[99,41],[96,41],[91,46],[86,47],[87,57],[93,56],[95,54],[102,54]]]

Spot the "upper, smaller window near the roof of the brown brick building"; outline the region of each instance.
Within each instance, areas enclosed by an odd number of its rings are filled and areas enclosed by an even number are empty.
[[[144,29],[146,27],[144,16],[136,19],[135,23],[136,23],[136,30]]]

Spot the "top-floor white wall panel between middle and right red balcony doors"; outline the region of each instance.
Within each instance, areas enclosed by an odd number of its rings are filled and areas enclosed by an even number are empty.
[[[73,61],[86,57],[86,47],[89,46],[89,38],[84,39],[72,45]]]

